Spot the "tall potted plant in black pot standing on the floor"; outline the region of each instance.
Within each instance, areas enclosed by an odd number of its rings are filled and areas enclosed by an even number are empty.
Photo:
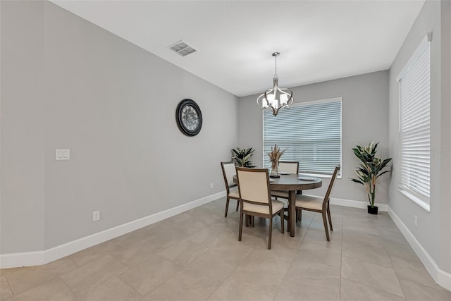
[[[374,206],[374,199],[376,198],[376,180],[384,173],[390,172],[383,171],[383,168],[385,168],[392,159],[388,158],[382,160],[376,158],[376,148],[378,147],[378,144],[379,142],[375,144],[373,141],[367,147],[357,145],[357,147],[352,149],[355,156],[360,160],[360,165],[355,170],[357,178],[352,178],[350,180],[365,186],[369,200],[369,214],[378,214],[378,207]]]

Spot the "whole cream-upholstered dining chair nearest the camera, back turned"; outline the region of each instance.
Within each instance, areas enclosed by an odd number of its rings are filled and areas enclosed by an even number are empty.
[[[273,232],[273,217],[280,216],[280,230],[284,232],[283,207],[285,204],[271,198],[269,188],[269,173],[267,168],[237,167],[238,192],[240,193],[240,233],[242,237],[243,215],[259,216],[269,219],[268,250],[271,250],[271,235]]]

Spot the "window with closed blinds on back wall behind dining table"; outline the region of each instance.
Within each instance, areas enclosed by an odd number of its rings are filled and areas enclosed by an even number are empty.
[[[277,116],[263,115],[265,168],[270,168],[267,152],[277,144],[286,149],[283,161],[299,161],[299,173],[332,175],[341,163],[341,98],[294,104]]]

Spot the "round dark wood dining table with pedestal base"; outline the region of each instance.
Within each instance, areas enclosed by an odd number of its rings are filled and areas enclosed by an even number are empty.
[[[237,183],[236,176],[233,182]],[[295,173],[281,174],[280,178],[269,178],[269,188],[271,190],[288,191],[288,231],[290,236],[295,236],[296,223],[296,193],[297,191],[320,188],[323,185],[321,178],[303,176]]]

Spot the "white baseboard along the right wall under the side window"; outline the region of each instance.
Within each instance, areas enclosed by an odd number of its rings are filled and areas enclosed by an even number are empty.
[[[434,259],[432,259],[431,255],[426,252],[421,243],[416,240],[412,232],[409,231],[409,228],[407,228],[407,226],[401,221],[401,219],[390,207],[388,207],[388,215],[390,215],[397,228],[399,228],[402,235],[404,235],[404,238],[406,238],[407,242],[409,242],[409,245],[416,253],[416,256],[418,256],[421,262],[424,264],[429,274],[431,274],[435,283],[442,286],[443,288],[446,288],[447,290],[451,290],[451,274],[441,270],[438,267]]]

